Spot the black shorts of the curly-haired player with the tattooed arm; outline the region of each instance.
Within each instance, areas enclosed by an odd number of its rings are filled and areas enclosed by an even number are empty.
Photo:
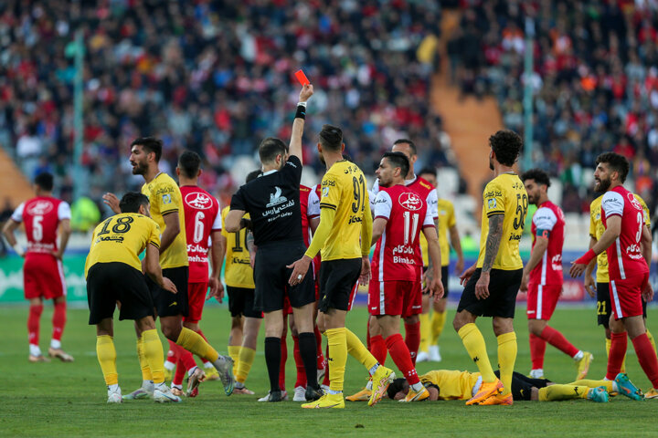
[[[475,297],[475,284],[480,279],[482,269],[475,272],[464,287],[457,312],[468,310],[478,317],[514,318],[516,308],[516,295],[521,287],[523,269],[505,271],[492,269],[489,281],[489,297],[478,299]]]

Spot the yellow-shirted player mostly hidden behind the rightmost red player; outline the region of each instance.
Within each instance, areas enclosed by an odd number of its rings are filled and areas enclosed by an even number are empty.
[[[644,203],[644,200],[637,193],[633,193],[635,199],[642,205],[642,210],[644,211],[644,224],[649,230],[651,230],[651,214],[649,213],[649,207]],[[601,235],[605,231],[605,226],[601,221],[601,200],[603,195],[600,195],[594,201],[589,204],[589,248],[594,246],[600,239]],[[596,283],[592,277],[592,272],[594,272],[594,267],[596,266],[597,275]],[[610,353],[610,313],[611,313],[611,303],[610,303],[610,277],[608,276],[608,255],[605,251],[601,252],[600,255],[596,257],[596,263],[592,260],[589,263],[589,266],[585,269],[585,290],[587,290],[589,297],[597,298],[597,321],[600,326],[605,328],[605,337],[606,337],[606,353]],[[642,310],[644,317],[644,326],[646,327],[646,301],[642,298]],[[614,324],[615,322],[613,322]],[[653,345],[655,350],[655,340],[653,335],[649,331],[649,328],[646,328],[647,338]],[[621,372],[625,372],[626,360],[621,363]]]

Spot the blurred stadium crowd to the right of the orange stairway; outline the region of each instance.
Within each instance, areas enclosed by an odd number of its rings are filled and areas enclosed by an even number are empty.
[[[464,1],[448,43],[464,94],[493,94],[523,130],[525,16],[534,18],[533,162],[563,183],[565,212],[587,212],[602,151],[631,161],[635,191],[658,204],[658,4]]]

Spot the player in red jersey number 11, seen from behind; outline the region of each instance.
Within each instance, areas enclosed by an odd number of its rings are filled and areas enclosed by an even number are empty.
[[[418,316],[422,297],[418,293],[416,249],[422,229],[428,240],[433,276],[430,295],[443,296],[439,237],[434,218],[419,194],[405,187],[409,159],[401,152],[387,152],[377,169],[380,191],[375,200],[372,280],[368,287],[368,311],[377,318],[377,326],[386,339],[391,358],[409,382],[404,401],[422,401],[430,393],[420,383],[409,348],[399,333],[399,319]],[[422,262],[420,263],[422,266]],[[375,325],[371,326],[374,328]]]

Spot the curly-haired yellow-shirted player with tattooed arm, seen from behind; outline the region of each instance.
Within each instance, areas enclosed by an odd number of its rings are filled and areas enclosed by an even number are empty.
[[[489,138],[489,145],[489,168],[494,178],[483,193],[480,255],[477,263],[462,274],[466,286],[452,325],[483,376],[482,388],[466,404],[511,405],[517,349],[515,304],[523,274],[519,241],[528,198],[513,168],[523,147],[521,138],[512,130],[499,130]],[[493,373],[483,335],[475,326],[479,316],[493,317],[500,381]]]

